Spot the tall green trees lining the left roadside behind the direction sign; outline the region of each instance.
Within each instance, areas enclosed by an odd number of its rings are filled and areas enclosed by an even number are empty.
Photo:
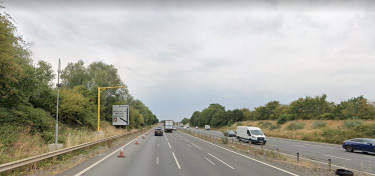
[[[1,6],[0,6],[1,9]],[[16,140],[25,128],[53,142],[57,91],[56,74],[50,63],[34,64],[32,43],[17,34],[15,21],[0,12],[0,146]],[[97,87],[123,84],[117,69],[101,61],[84,66],[82,60],[69,62],[61,72],[59,126],[96,129]],[[129,127],[157,123],[152,111],[129,93],[127,87],[100,93],[100,119],[112,121],[112,104],[129,104]],[[11,138],[10,136],[15,136]],[[8,141],[9,140],[9,141]]]

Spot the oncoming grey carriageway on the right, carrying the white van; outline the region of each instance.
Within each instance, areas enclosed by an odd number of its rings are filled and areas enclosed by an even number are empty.
[[[179,128],[179,130],[186,130]],[[205,135],[222,137],[223,133],[217,130],[204,130],[201,128],[188,128],[186,131],[203,133]],[[237,142],[235,137],[227,137],[229,142]],[[296,157],[299,153],[300,158],[307,159],[311,162],[327,165],[328,159],[335,167],[342,167],[349,170],[363,171],[369,175],[375,175],[375,154],[363,153],[360,151],[346,152],[342,145],[327,144],[318,142],[309,142],[302,140],[292,140],[277,137],[268,137],[263,148],[276,151],[288,156]],[[247,141],[241,141],[248,144]],[[252,147],[261,148],[260,144],[250,144]]]

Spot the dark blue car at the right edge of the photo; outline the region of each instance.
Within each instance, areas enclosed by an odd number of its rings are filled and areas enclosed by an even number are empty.
[[[360,150],[375,153],[375,138],[352,138],[342,142],[342,148],[347,152]]]

